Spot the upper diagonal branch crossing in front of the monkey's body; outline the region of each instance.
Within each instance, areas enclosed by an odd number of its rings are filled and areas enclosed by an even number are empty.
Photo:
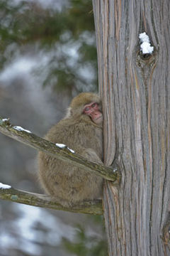
[[[85,171],[91,171],[109,181],[120,180],[120,171],[118,171],[117,168],[108,167],[94,161],[89,161],[83,156],[79,156],[79,154],[72,153],[67,146],[60,148],[59,146],[56,146],[55,143],[42,139],[26,129],[11,125],[8,119],[0,118],[0,132],[8,137],[16,139],[18,142],[22,142],[23,144],[31,146],[34,149],[44,151],[50,156],[55,156],[57,159],[66,161],[68,164],[80,167]]]

